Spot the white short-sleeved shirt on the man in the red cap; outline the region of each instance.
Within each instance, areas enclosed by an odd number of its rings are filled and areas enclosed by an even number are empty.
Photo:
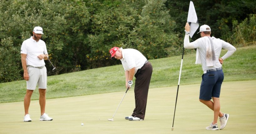
[[[122,56],[123,58],[120,61],[122,62],[124,71],[130,71],[130,69],[135,67],[135,74],[147,61],[147,58],[136,49],[122,49]]]

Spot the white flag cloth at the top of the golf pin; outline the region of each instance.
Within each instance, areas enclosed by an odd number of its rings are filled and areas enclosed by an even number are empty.
[[[194,33],[196,32],[197,28],[199,27],[199,23],[196,16],[196,10],[192,1],[189,4],[188,10],[188,19],[187,22],[190,24],[190,34],[189,36],[192,38]]]

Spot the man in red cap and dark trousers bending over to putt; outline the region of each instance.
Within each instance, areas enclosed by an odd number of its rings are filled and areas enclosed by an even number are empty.
[[[133,85],[133,76],[135,79],[134,96],[135,108],[131,116],[125,117],[130,121],[143,121],[146,112],[146,105],[149,92],[149,83],[152,75],[151,63],[141,52],[135,49],[123,49],[122,47],[113,47],[109,50],[111,59],[118,59],[122,62],[125,71],[125,86],[131,88]]]

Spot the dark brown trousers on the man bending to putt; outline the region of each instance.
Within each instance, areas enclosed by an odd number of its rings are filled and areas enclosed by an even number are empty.
[[[134,87],[134,96],[135,96],[135,108],[133,110],[133,117],[138,117],[144,120],[148,92],[149,92],[149,83],[151,79],[153,68],[150,62],[147,62],[143,67],[141,67],[137,73],[134,75],[135,87]]]

